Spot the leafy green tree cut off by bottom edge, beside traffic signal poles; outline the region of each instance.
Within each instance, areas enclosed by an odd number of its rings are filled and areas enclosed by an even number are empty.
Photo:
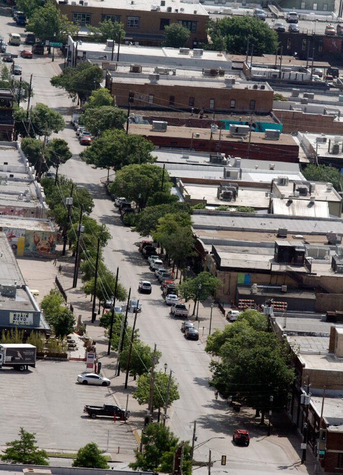
[[[173,458],[176,449],[183,444],[182,473],[191,475],[192,461],[190,460],[190,446],[188,441],[181,442],[163,424],[150,424],[142,433],[142,453],[135,451],[135,462],[130,462],[133,470],[173,473]]]

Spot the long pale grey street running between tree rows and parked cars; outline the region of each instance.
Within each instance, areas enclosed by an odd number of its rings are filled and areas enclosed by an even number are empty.
[[[9,17],[0,17],[2,34],[8,39],[10,31],[24,34],[23,28],[14,26]],[[24,46],[9,47],[9,50],[24,49]],[[161,298],[161,290],[156,283],[153,273],[149,270],[146,261],[138,253],[136,243],[141,237],[124,227],[119,219],[119,213],[113,202],[100,184],[101,177],[106,176],[106,170],[93,169],[77,158],[82,150],[75,137],[75,132],[69,125],[72,113],[71,99],[62,90],[52,87],[49,83],[51,76],[61,71],[64,60],[55,55],[55,61],[50,57],[35,57],[33,60],[18,58],[23,68],[23,79],[29,81],[33,74],[34,98],[32,104],[44,102],[49,107],[58,110],[65,116],[66,129],[58,134],[68,141],[74,154],[60,172],[74,180],[77,186],[86,187],[93,195],[95,202],[92,216],[99,222],[105,223],[112,238],[104,250],[104,260],[112,272],[120,269],[120,281],[127,289],[131,286],[131,298],[138,298],[142,304],[142,312],[138,316],[137,327],[140,339],[162,352],[159,369],[164,363],[168,371],[173,370],[173,376],[179,383],[180,399],[169,409],[169,426],[181,439],[190,440],[193,423],[197,421],[197,442],[205,442],[213,437],[201,448],[194,452],[194,459],[206,461],[209,449],[212,450],[212,459],[215,461],[213,472],[231,473],[276,473],[282,471],[291,473],[297,470],[301,473],[312,473],[306,466],[300,465],[298,438],[290,440],[287,434],[282,437],[266,437],[265,428],[251,433],[252,440],[249,447],[237,447],[232,443],[232,433],[237,427],[244,428],[244,414],[233,413],[228,410],[226,401],[216,401],[213,389],[208,385],[211,377],[209,371],[210,357],[205,352],[205,343],[202,341],[188,341],[180,331],[181,320],[169,316],[168,309]],[[25,107],[25,105],[24,105]],[[137,286],[140,279],[148,279],[153,283],[151,295],[138,295]],[[129,317],[132,325],[133,316]],[[54,391],[55,380],[51,381],[51,391]],[[223,437],[221,439],[221,437]],[[106,438],[106,428],[102,436]],[[57,441],[53,441],[56,443]],[[57,447],[56,447],[57,448]],[[60,449],[67,447],[60,447]],[[296,448],[296,449],[295,449]],[[226,467],[220,468],[220,458],[227,456]],[[204,473],[205,468],[199,468],[198,473]],[[207,469],[206,469],[207,470]]]

